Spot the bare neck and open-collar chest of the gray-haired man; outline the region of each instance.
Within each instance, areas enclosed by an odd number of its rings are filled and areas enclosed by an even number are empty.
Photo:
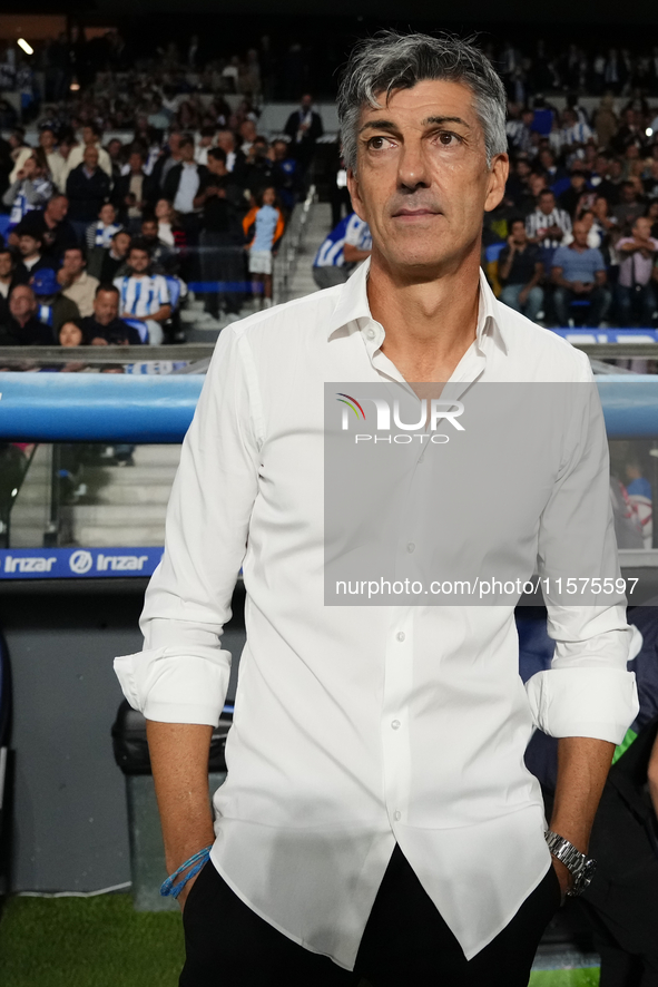
[[[382,351],[407,381],[448,381],[475,339],[480,254],[413,277],[373,252],[367,297],[386,333]]]

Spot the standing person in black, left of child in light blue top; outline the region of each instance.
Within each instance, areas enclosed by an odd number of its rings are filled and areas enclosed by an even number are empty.
[[[223,309],[237,314],[245,280],[242,217],[245,198],[226,168],[226,152],[208,152],[208,173],[199,186],[197,203],[203,208],[200,245],[202,281],[216,287],[206,291],[205,309],[215,319]]]

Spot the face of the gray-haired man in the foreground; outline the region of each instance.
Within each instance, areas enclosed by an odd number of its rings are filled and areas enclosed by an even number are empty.
[[[357,167],[347,182],[373,252],[387,266],[420,274],[475,250],[482,213],[501,202],[507,175],[507,155],[487,167],[471,90],[441,80],[397,89],[381,109],[362,109]]]

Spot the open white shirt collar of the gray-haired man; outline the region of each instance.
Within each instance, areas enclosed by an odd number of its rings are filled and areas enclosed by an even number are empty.
[[[370,271],[370,257],[357,267],[354,274],[341,286],[338,301],[327,325],[327,339],[341,329],[345,329],[351,322],[365,320],[359,329],[374,322],[367,301],[367,274]],[[482,350],[484,340],[491,335],[507,353],[509,336],[505,338],[504,313],[501,304],[491,291],[484,272],[480,268],[480,305],[478,310],[478,326],[475,329],[475,345]]]

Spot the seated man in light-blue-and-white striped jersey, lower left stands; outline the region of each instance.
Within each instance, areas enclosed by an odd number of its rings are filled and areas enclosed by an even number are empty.
[[[136,240],[128,252],[130,273],[115,278],[120,295],[120,317],[144,323],[148,342],[163,342],[163,323],[171,315],[169,289],[161,274],[150,273],[150,256],[146,244]]]

